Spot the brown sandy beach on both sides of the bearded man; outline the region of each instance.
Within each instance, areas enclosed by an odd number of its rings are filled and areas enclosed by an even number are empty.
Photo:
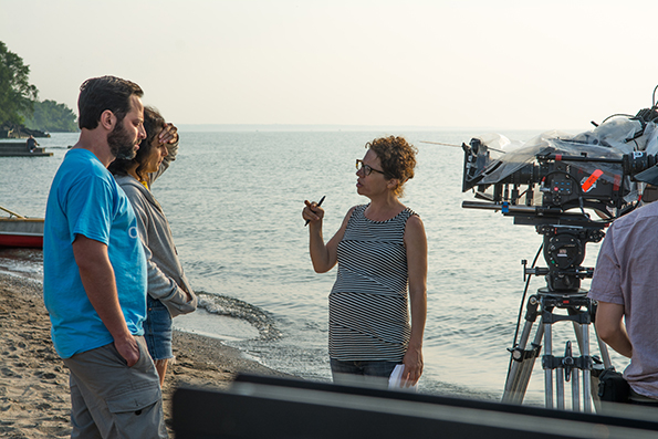
[[[0,274],[0,437],[69,437],[69,370],[54,351],[38,281]],[[240,373],[280,375],[220,341],[175,332],[163,389],[169,433],[171,396],[180,385],[222,388]]]

